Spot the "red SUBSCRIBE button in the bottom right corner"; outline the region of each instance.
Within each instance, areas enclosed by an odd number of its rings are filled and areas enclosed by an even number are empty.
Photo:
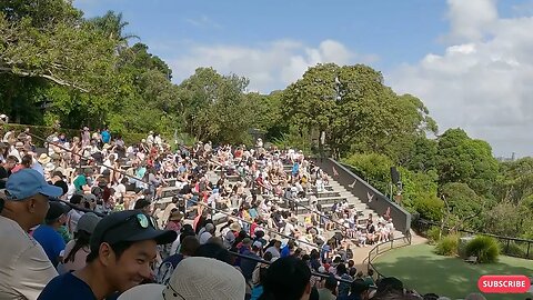
[[[524,293],[531,282],[525,276],[482,276],[477,288],[484,293]]]

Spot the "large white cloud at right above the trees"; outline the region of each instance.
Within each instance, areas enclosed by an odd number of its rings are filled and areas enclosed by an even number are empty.
[[[533,18],[499,18],[493,0],[450,0],[449,8],[444,53],[396,68],[388,83],[420,97],[441,131],[461,127],[496,156],[532,156]]]

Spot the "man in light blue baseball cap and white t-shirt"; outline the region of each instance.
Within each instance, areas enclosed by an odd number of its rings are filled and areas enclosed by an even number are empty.
[[[4,207],[0,216],[0,296],[2,299],[37,299],[58,272],[42,247],[28,231],[42,223],[49,198],[62,190],[50,186],[32,169],[9,177],[0,191]]]

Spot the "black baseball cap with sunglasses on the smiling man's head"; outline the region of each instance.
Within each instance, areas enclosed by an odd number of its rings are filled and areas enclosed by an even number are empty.
[[[178,238],[173,230],[157,229],[152,218],[138,210],[124,210],[105,216],[98,222],[91,236],[91,251],[98,251],[102,242],[135,242],[154,240],[158,244],[171,243]]]

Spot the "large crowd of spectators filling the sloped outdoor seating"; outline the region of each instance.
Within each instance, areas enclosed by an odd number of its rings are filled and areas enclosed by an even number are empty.
[[[32,139],[0,143],[0,299],[446,299],[356,269],[392,219],[321,206],[330,178],[301,151]]]

